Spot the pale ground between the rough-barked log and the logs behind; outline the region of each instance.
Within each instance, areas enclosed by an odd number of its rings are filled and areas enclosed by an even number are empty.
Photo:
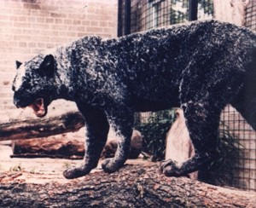
[[[80,159],[49,159],[49,158],[10,158],[12,148],[10,142],[0,143],[0,182],[27,182],[27,183],[45,183],[45,182],[68,182],[62,175],[62,171],[73,165],[79,165]],[[129,159],[127,164],[145,164],[149,163],[138,159]],[[102,171],[102,160],[94,171]]]

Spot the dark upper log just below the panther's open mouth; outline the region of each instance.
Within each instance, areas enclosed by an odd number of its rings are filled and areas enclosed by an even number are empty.
[[[84,127],[79,112],[69,112],[52,118],[35,118],[0,124],[0,141],[32,139],[78,131]]]

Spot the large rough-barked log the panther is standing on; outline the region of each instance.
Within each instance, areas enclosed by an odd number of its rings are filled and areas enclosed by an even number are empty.
[[[0,182],[8,174],[2,175]],[[158,165],[125,165],[112,174],[99,171],[63,183],[15,179],[1,183],[0,207],[255,207],[256,203],[255,193],[166,177],[158,173]]]

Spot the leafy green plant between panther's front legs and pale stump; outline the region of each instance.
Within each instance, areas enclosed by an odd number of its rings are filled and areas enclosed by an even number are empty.
[[[151,113],[147,123],[139,123],[135,128],[143,134],[143,152],[150,153],[153,161],[163,160],[166,153],[166,133],[175,120],[175,110]]]

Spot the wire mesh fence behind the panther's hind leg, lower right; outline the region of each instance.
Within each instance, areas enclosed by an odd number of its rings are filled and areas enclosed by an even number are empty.
[[[233,180],[229,185],[245,190],[256,190],[256,132],[230,105],[224,109],[221,130],[229,128],[238,140],[239,156],[233,164]]]

